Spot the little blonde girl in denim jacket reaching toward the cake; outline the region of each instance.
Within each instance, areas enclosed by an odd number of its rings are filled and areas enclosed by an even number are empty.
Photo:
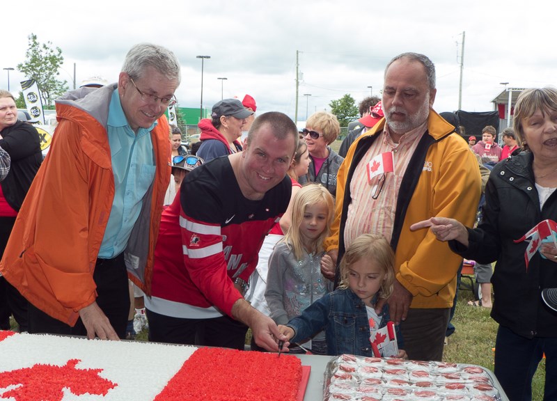
[[[337,290],[306,308],[304,312],[280,325],[281,333],[298,343],[324,329],[329,355],[354,354],[374,356],[370,344],[372,331],[389,322],[389,305],[375,313],[377,299],[393,292],[394,254],[382,235],[364,234],[356,238],[340,262]],[[398,358],[407,358],[402,349],[402,334],[395,327]]]

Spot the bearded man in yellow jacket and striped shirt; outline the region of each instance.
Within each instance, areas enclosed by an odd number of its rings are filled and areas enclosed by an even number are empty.
[[[400,54],[387,65],[385,117],[352,144],[340,166],[325,245],[340,262],[359,235],[384,235],[395,251],[390,315],[400,324],[405,350],[410,359],[441,361],[462,258],[430,231],[411,232],[409,226],[430,216],[471,224],[480,172],[466,141],[433,111],[436,93],[435,68],[423,54]],[[377,302],[377,313],[383,304]]]

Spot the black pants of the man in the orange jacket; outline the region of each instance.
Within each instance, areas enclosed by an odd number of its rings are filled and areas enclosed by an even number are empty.
[[[127,316],[130,313],[130,294],[124,254],[120,253],[113,259],[97,259],[93,280],[97,285],[98,306],[104,315],[107,315],[118,337],[125,338]],[[86,336],[87,331],[81,319],[71,327],[29,304],[29,333]]]

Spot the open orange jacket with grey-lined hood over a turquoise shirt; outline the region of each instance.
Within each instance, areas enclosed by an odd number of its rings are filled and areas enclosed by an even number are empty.
[[[78,310],[97,298],[93,271],[109,219],[114,178],[107,136],[113,86],[68,94],[56,101],[58,127],[51,150],[15,221],[0,273],[34,306],[73,326]],[[166,117],[151,131],[155,178],[132,230],[128,275],[150,291],[155,242],[171,175]]]

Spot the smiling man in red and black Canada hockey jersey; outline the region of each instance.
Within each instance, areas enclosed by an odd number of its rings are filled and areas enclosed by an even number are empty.
[[[288,116],[264,113],[243,152],[187,175],[162,215],[146,298],[151,341],[244,349],[246,325],[266,349],[286,340],[243,295],[265,235],[288,207],[297,142]]]

